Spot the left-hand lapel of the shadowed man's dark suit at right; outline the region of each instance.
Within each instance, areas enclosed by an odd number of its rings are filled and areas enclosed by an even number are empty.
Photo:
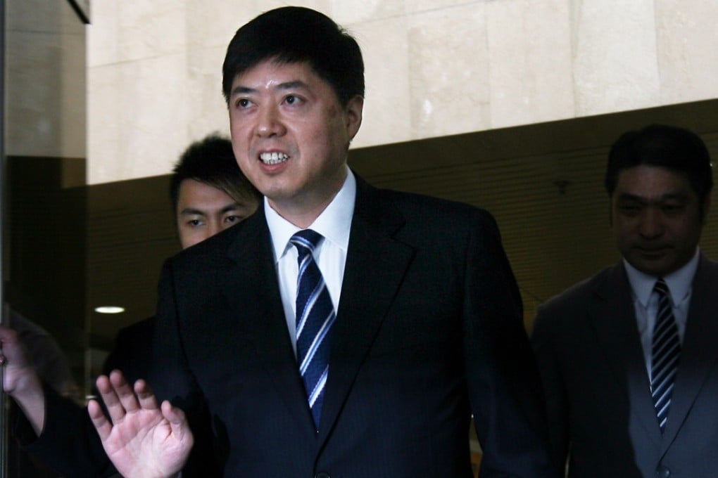
[[[606,280],[597,285],[595,292],[597,303],[590,308],[589,317],[601,343],[601,350],[610,363],[616,381],[625,389],[630,410],[638,416],[648,436],[658,444],[661,430],[653,407],[630,283],[623,263],[611,269]]]

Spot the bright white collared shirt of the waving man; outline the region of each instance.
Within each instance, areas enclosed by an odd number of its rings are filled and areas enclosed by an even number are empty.
[[[344,267],[347,261],[347,249],[349,245],[349,232],[354,215],[354,202],[356,199],[356,178],[347,168],[347,178],[332,202],[322,211],[317,219],[307,228],[317,231],[324,236],[319,247],[314,249],[314,260],[322,272],[327,284],[329,295],[332,298],[334,310],[339,310],[339,296],[342,290],[342,279]],[[300,231],[279,214],[271,209],[269,201],[264,198],[264,215],[269,233],[271,234],[274,249],[274,264],[276,266],[277,278],[279,279],[279,292],[281,303],[284,306],[284,317],[286,327],[289,330],[289,338],[292,339],[292,347],[297,352],[297,248],[289,242],[289,239]]]

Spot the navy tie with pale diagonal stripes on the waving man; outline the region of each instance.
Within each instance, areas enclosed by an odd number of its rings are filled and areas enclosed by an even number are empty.
[[[297,361],[307,391],[314,425],[319,429],[324,388],[329,373],[334,305],[313,252],[322,235],[311,229],[294,234],[289,242],[297,247]]]

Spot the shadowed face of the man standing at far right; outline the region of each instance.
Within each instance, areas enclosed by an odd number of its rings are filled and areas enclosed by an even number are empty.
[[[709,203],[707,196],[704,214]],[[621,171],[611,214],[618,250],[645,274],[676,271],[696,252],[703,218],[698,196],[682,173],[656,166]]]

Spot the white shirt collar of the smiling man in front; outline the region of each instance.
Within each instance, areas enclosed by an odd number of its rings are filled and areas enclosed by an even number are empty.
[[[336,244],[344,252],[349,246],[349,231],[354,215],[357,183],[352,171],[347,168],[347,178],[332,202],[322,211],[322,214],[307,228],[317,231],[325,237],[326,241]],[[277,214],[264,198],[264,216],[266,217],[272,245],[274,246],[274,262],[284,255],[291,245],[289,239],[294,233],[301,230],[291,222]]]

